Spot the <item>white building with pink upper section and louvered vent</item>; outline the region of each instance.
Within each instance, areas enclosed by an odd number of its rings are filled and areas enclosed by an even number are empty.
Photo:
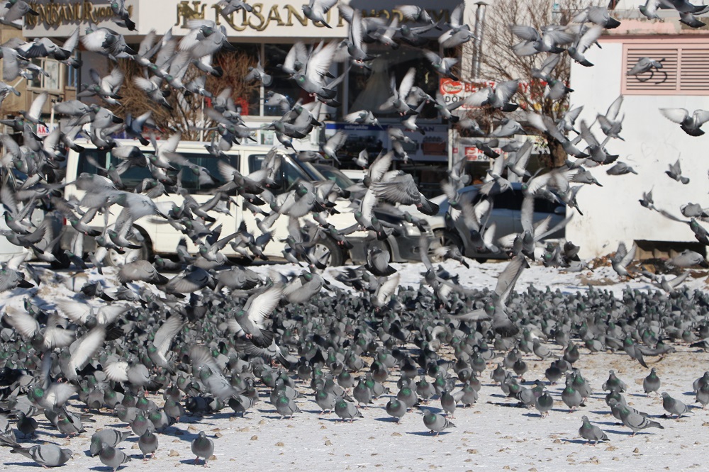
[[[624,140],[610,140],[606,148],[637,171],[637,175],[612,176],[605,172],[609,166],[590,169],[603,186],[586,185],[579,191],[577,201],[584,215],[575,215],[566,227],[566,237],[581,246],[582,257],[614,252],[619,241],[636,242],[641,258],[667,257],[685,248],[705,253],[687,223],[639,203],[643,193],[652,191],[654,206],[686,221],[681,206],[709,206],[708,135],[687,135],[659,111],[709,110],[709,31],[679,23],[676,11],[660,10],[659,14],[661,20],[649,21],[637,5],[619,4],[614,16],[621,26],[601,37],[600,49],[593,47],[586,54],[596,65],[571,66],[571,106],[584,106],[580,119],[586,123],[593,123],[597,113],[605,113],[623,95],[620,136]],[[663,67],[628,76],[641,57],[661,60]],[[598,123],[591,129],[597,137],[604,137]],[[665,174],[677,159],[683,176],[690,179],[688,184]]]

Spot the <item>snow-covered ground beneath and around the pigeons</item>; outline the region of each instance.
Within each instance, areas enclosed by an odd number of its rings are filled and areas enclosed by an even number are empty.
[[[471,288],[494,287],[497,274],[506,264],[472,263],[470,269],[446,262],[443,266],[460,277],[463,286]],[[394,264],[401,273],[401,285],[418,286],[423,271],[422,264]],[[287,273],[296,271],[289,264],[257,266],[257,271],[276,270]],[[328,269],[328,279],[337,269]],[[45,283],[39,296],[51,302],[56,296],[65,295],[67,288],[62,280],[71,273],[50,274],[43,272]],[[691,288],[705,289],[706,275],[688,279]],[[94,274],[90,275],[93,279]],[[113,279],[108,270],[107,280]],[[602,267],[591,273],[564,274],[558,269],[532,266],[523,272],[515,288],[524,291],[530,285],[537,288],[550,286],[564,292],[586,290],[588,283],[596,288],[619,294],[626,284],[619,283],[610,268]],[[632,288],[654,288],[649,283],[632,281]],[[63,292],[63,293],[62,293]],[[26,293],[11,291],[5,303],[21,303]],[[559,347],[549,343],[554,354],[560,356]],[[677,352],[664,358],[650,358],[648,364],[657,369],[662,381],[661,391],[691,404],[692,382],[709,370],[709,354],[676,345]],[[389,395],[374,400],[374,405],[363,409],[363,418],[352,423],[340,422],[333,413],[320,415],[320,408],[313,402],[312,390],[298,381],[298,390],[304,394],[296,401],[303,412],[291,420],[277,415],[268,401],[267,388],[260,386],[262,398],[245,417],[235,417],[230,409],[206,417],[183,417],[181,422],[159,435],[160,446],[155,459],[144,462],[138,450],[137,438],[132,437],[121,444],[121,449],[133,455],[133,460],[122,470],[167,471],[194,467],[190,442],[203,430],[214,440],[216,459],[208,462],[213,471],[264,471],[264,470],[512,470],[512,471],[567,471],[571,470],[687,470],[707,468],[709,456],[709,412],[695,408],[680,420],[661,418],[664,410],[659,396],[647,396],[642,392],[642,378],[649,372],[640,364],[631,361],[624,352],[616,354],[589,354],[580,347],[581,359],[574,364],[581,369],[591,383],[593,395],[586,406],[568,412],[562,403],[562,386],[549,386],[554,396],[554,409],[549,417],[540,419],[536,410],[517,406],[517,400],[506,398],[498,386],[490,380],[495,364],[481,374],[484,383],[479,401],[470,408],[458,408],[452,422],[455,428],[440,436],[432,436],[423,424],[423,415],[413,410],[403,417],[401,424],[391,420],[384,410]],[[549,361],[540,361],[536,356],[525,354],[530,370],[525,374],[525,385],[539,378],[545,381],[544,371]],[[371,359],[367,359],[371,361]],[[648,412],[664,429],[646,429],[635,437],[610,415],[605,405],[605,392],[601,390],[608,378],[608,369],[615,369],[628,385],[625,393],[629,403],[638,410]],[[387,382],[392,395],[396,395],[396,377]],[[547,381],[545,381],[547,383]],[[158,403],[162,397],[153,398]],[[74,403],[74,407],[79,407]],[[432,400],[423,409],[440,409],[440,400]],[[610,442],[587,445],[579,437],[581,416],[587,415],[593,424],[603,429]],[[74,458],[64,467],[79,470],[109,470],[98,457],[87,456],[89,437],[99,427],[123,428],[118,418],[108,412],[94,416],[96,423],[86,425],[86,432],[79,437],[65,439],[56,430],[40,419],[40,434],[37,442],[49,441],[74,451]],[[28,459],[8,454],[1,448],[0,470],[18,471],[25,466],[38,467]]]

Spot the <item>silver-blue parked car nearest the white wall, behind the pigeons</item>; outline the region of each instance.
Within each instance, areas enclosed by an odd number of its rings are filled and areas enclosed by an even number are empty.
[[[480,185],[471,185],[464,187],[459,191],[461,198],[465,198],[475,204],[483,197],[480,191]],[[511,234],[522,232],[522,223],[520,214],[522,210],[522,201],[524,195],[522,193],[522,184],[513,183],[512,189],[494,196],[493,209],[489,218],[488,226],[495,223],[495,239]],[[445,225],[445,214],[448,212],[448,198],[440,195],[431,198],[431,201],[437,203],[440,207],[438,214],[435,216],[418,215],[419,218],[425,218],[433,231],[435,237],[435,245],[456,246],[460,252],[471,259],[478,259],[481,262],[485,259],[506,259],[508,254],[502,250],[498,252],[477,252],[476,249],[469,244],[467,238],[460,237],[457,232],[447,230]],[[566,215],[566,206],[563,203],[552,203],[541,198],[535,200],[534,222],[550,217],[549,228],[554,227],[564,220]],[[545,240],[562,239],[565,235],[564,228],[547,236]]]

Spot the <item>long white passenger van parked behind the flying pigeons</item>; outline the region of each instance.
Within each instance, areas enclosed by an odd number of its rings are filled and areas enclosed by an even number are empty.
[[[69,150],[69,154],[67,155],[66,179],[69,183],[65,189],[65,198],[67,200],[72,197],[80,200],[83,196],[84,192],[80,191],[76,188],[76,186],[74,186],[74,184],[72,184],[72,182],[77,179],[77,176],[84,172],[88,172],[89,174],[98,173],[96,167],[91,164],[91,160],[94,160],[94,162],[99,165],[103,165],[104,167],[106,167],[109,163],[115,166],[118,162],[120,162],[116,157],[111,156],[110,150],[98,150],[89,141],[77,142],[77,144],[84,147],[84,151],[75,152],[73,150]],[[204,142],[180,142],[176,152],[182,154],[191,162],[194,162],[194,164],[208,169],[209,172],[216,177],[216,179],[221,179],[217,167],[217,163],[220,159],[214,157],[212,154],[209,154],[205,148],[205,144],[206,143]],[[138,145],[140,150],[146,155],[155,153],[152,146],[140,146],[135,140],[118,140],[118,145]],[[272,147],[263,145],[234,146],[232,150],[227,153],[228,164],[235,167],[235,169],[238,169],[241,174],[248,175],[261,168],[264,157],[271,149]],[[88,159],[88,157],[93,159]],[[177,171],[170,172],[177,174]],[[125,190],[127,191],[132,191],[135,189],[135,187],[138,186],[143,179],[150,178],[152,178],[152,176],[147,167],[131,167],[128,171],[121,174],[121,180],[123,181]],[[323,179],[325,179],[325,177],[320,174],[320,172],[318,172],[312,164],[301,162],[295,157],[284,153],[282,155],[281,172],[276,179],[276,185],[271,190],[276,194],[283,193],[289,191],[294,182],[298,180],[316,181]],[[194,176],[191,172],[183,172],[182,174],[183,188],[189,191],[190,195],[194,197],[198,203],[205,203],[212,198],[214,189],[216,189],[217,186],[220,186],[220,184],[223,184],[223,182],[216,185],[201,186],[199,181],[196,179],[196,176]],[[228,210],[230,215],[218,213],[216,211],[209,213],[209,215],[216,218],[216,222],[213,223],[213,227],[222,225],[220,234],[221,237],[224,237],[236,232],[243,222],[245,223],[248,232],[254,234],[256,237],[260,235],[261,232],[257,228],[256,219],[262,219],[263,216],[255,216],[251,211],[245,209],[242,198],[238,196],[236,191],[233,191],[231,198],[236,204],[229,203]],[[182,205],[183,198],[176,193],[171,193],[169,196],[159,196],[155,198],[154,201],[157,206],[161,208],[161,210],[164,209],[164,212],[167,213],[173,203],[177,206]],[[269,211],[268,206],[264,206],[262,208]],[[350,201],[345,199],[338,200],[335,208],[340,213],[328,215],[328,223],[334,225],[337,229],[350,227],[356,223],[354,219],[354,208],[350,206]],[[111,211],[112,214],[108,218],[108,225],[115,223],[118,212],[119,210],[115,208]],[[311,218],[311,216],[307,216],[306,218]],[[281,216],[272,226],[271,231],[273,233],[273,239],[264,249],[265,256],[269,258],[284,257],[282,251],[286,248],[286,244],[282,242],[282,240],[289,235],[287,227],[288,220],[289,218],[286,216]],[[96,230],[103,230],[103,215],[100,213],[96,215],[90,225]],[[402,225],[406,225],[406,235],[411,235],[412,239],[418,240],[418,235],[420,235],[420,232],[418,232],[418,229],[415,226],[409,225],[405,222],[403,222]],[[132,242],[135,242],[136,245],[140,245],[140,249],[124,249],[123,254],[110,250],[106,256],[106,263],[118,266],[136,259],[150,259],[152,254],[175,254],[177,252],[179,240],[185,237],[182,232],[175,230],[172,225],[169,225],[167,220],[162,220],[162,218],[155,216],[147,216],[138,219],[133,224],[133,228],[135,231],[140,233],[140,237],[133,237]],[[73,228],[71,226],[67,226],[67,235],[65,235],[63,240],[63,245],[65,247],[67,247],[67,242],[73,232]],[[365,237],[367,237],[367,232],[362,231],[354,232],[352,235],[347,237],[347,239],[356,246],[353,248],[352,254],[358,254],[358,256],[364,254],[364,251],[362,251],[362,248],[359,246],[364,245]],[[199,249],[192,244],[189,238],[186,238],[186,240],[189,252],[191,254],[196,254]],[[88,244],[89,243],[87,242],[84,248],[86,251],[91,250],[90,246],[87,247]],[[345,249],[342,249],[342,247],[337,245],[335,240],[330,237],[320,240],[316,244],[314,250],[317,256],[322,255],[323,259],[329,259],[327,264],[333,266],[341,265],[345,263],[347,259],[361,259],[361,257],[352,257],[352,254],[347,252]],[[226,245],[220,252],[228,257],[240,257],[240,254],[230,245]],[[415,254],[401,254],[397,251],[393,251],[392,254],[392,260],[397,262],[415,259],[418,259]],[[353,262],[360,261],[354,260]]]

